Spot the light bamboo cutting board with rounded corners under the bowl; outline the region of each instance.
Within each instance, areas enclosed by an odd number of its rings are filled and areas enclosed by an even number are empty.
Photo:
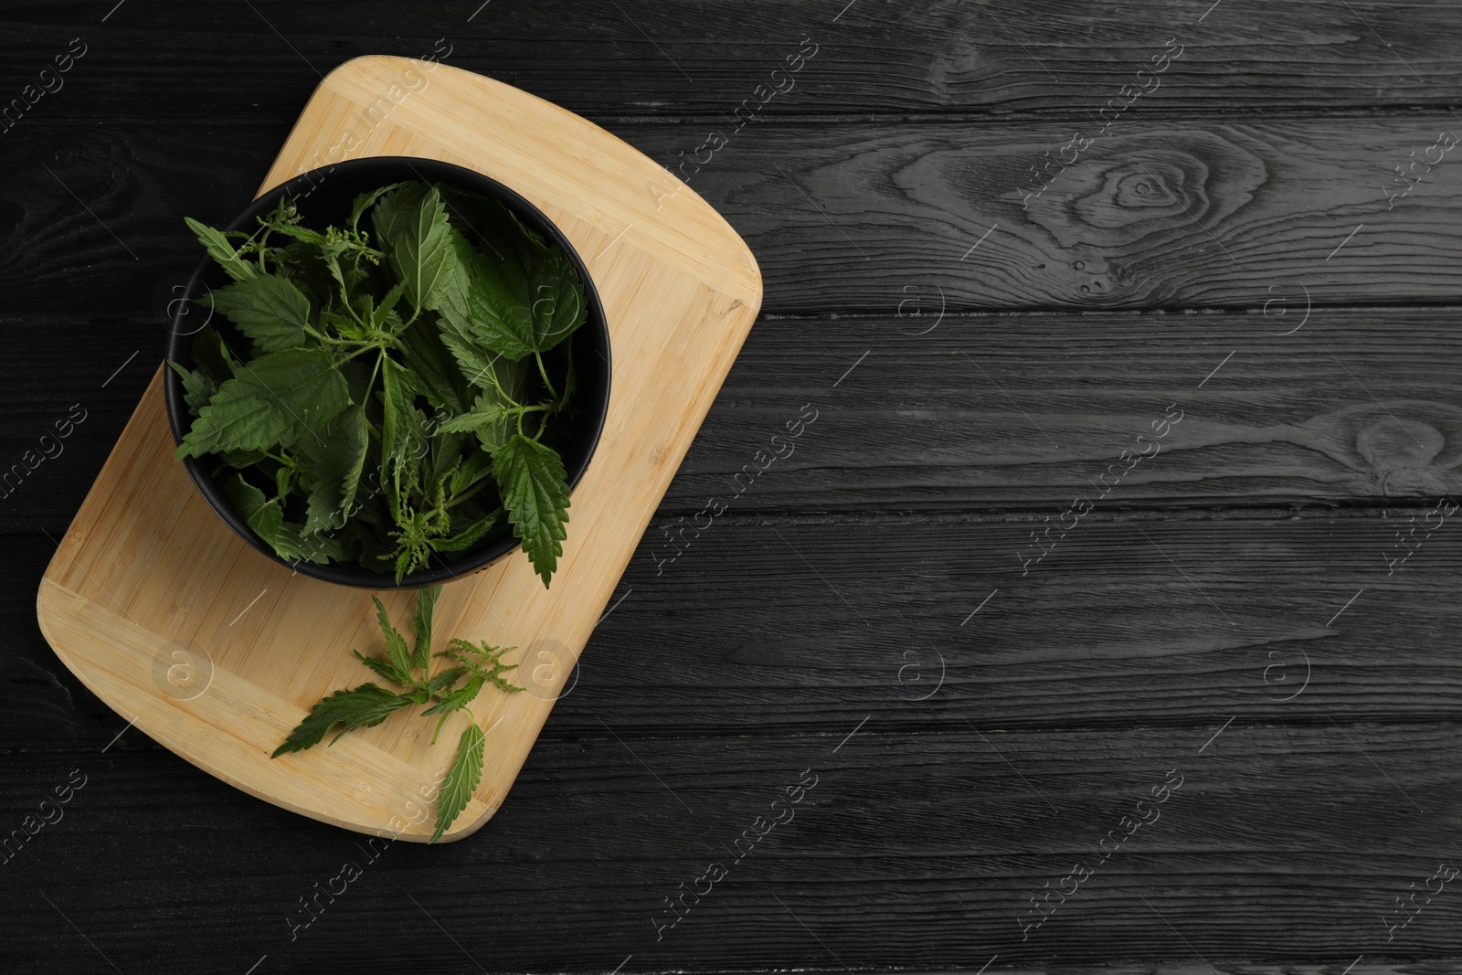
[[[518,776],[751,327],[762,278],[731,227],[636,149],[516,88],[411,58],[330,72],[260,193],[373,155],[444,159],[532,200],[589,266],[614,358],[553,589],[515,553],[449,583],[437,604],[439,646],[516,646],[504,659],[528,687],[487,688],[472,706],[487,765],[452,841],[485,823]],[[269,759],[323,694],[371,678],[351,656],[382,649],[371,593],[292,574],[219,520],[173,460],[161,377],[41,580],[41,631],[98,697],[200,769],[304,816],[424,841],[466,718],[436,746],[434,719],[406,709],[332,747]],[[405,624],[412,593],[382,595]]]

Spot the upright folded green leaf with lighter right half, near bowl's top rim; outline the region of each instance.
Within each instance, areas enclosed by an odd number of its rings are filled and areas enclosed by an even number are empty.
[[[411,304],[436,310],[459,273],[442,194],[434,186],[408,183],[382,197],[371,218]]]

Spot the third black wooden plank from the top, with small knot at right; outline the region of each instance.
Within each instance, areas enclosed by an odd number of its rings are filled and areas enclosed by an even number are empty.
[[[1455,313],[1310,307],[1306,317],[1298,288],[1266,294],[1268,313],[940,319],[937,292],[923,287],[904,317],[763,319],[652,520],[652,545],[716,504],[743,516],[1057,515],[1123,450],[1151,452],[1136,437],[1173,402],[1186,418],[1107,506],[1430,504],[1459,490]],[[39,437],[73,403],[86,411],[69,439],[44,444],[61,453],[0,501],[0,531],[60,538],[155,346],[102,383],[151,323],[0,316],[0,330],[15,351],[0,363],[10,396],[0,458],[42,458]],[[58,333],[92,338],[57,344]],[[788,439],[808,405],[816,421]]]

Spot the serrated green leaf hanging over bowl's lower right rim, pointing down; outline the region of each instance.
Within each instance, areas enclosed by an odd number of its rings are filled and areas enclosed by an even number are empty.
[[[522,539],[547,588],[563,554],[560,542],[567,538],[569,484],[563,460],[551,447],[515,433],[493,455],[493,477],[513,534]]]

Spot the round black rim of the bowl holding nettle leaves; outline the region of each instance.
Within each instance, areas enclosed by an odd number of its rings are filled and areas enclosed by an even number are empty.
[[[270,187],[269,190],[265,190],[253,200],[250,200],[249,206],[246,206],[224,229],[228,231],[246,229],[244,227],[241,227],[243,224],[247,224],[254,218],[260,216],[262,213],[268,212],[269,209],[272,209],[278,203],[278,200],[284,196],[289,196],[291,199],[297,200],[304,199],[313,191],[314,184],[320,183],[322,180],[327,180],[329,175],[333,174],[336,170],[341,168],[367,170],[367,168],[392,168],[392,167],[398,168],[405,167],[406,170],[411,170],[414,177],[406,177],[406,178],[415,178],[424,183],[449,183],[453,186],[459,186],[461,189],[480,193],[487,199],[496,199],[501,202],[504,206],[507,206],[509,210],[523,218],[523,222],[528,224],[528,227],[551,238],[553,243],[557,244],[558,249],[563,250],[563,253],[569,257],[569,262],[573,265],[575,270],[579,272],[579,279],[585,288],[585,297],[588,300],[589,311],[588,317],[585,319],[585,323],[579,326],[577,332],[583,332],[585,329],[594,329],[594,332],[598,333],[596,335],[598,348],[595,351],[599,354],[599,358],[604,360],[604,368],[601,373],[602,395],[598,396],[595,402],[580,401],[580,421],[576,424],[576,433],[582,437],[586,436],[588,446],[583,453],[582,463],[579,463],[576,468],[572,469],[569,469],[566,465],[564,472],[567,475],[567,485],[572,493],[573,488],[583,478],[583,474],[585,471],[588,471],[589,463],[594,460],[594,455],[598,452],[599,439],[604,433],[604,424],[608,420],[610,390],[614,379],[614,367],[611,360],[613,349],[610,342],[608,317],[604,310],[604,303],[599,298],[598,288],[595,287],[594,276],[589,273],[588,265],[585,263],[579,251],[575,249],[575,246],[569,241],[563,229],[560,229],[558,225],[554,224],[547,213],[538,209],[538,206],[535,206],[520,193],[513,190],[510,186],[506,186],[504,183],[500,183],[499,180],[494,180],[493,177],[484,172],[478,172],[477,170],[469,170],[466,167],[456,165],[455,162],[446,162],[443,159],[428,159],[420,156],[361,156],[357,159],[332,162],[329,165],[300,172],[298,175],[294,175],[285,180],[284,183]],[[427,170],[428,174],[424,175],[421,171],[418,171],[418,167]],[[433,175],[431,171],[440,175]],[[387,186],[389,183],[393,181],[396,180],[383,178],[380,181],[380,186]],[[306,184],[308,184],[308,189],[300,193],[298,190]],[[194,268],[193,273],[187,281],[186,291],[183,295],[184,300],[180,304],[180,310],[173,311],[173,314],[167,319],[167,329],[168,329],[167,358],[170,361],[178,361],[184,364],[190,363],[192,357],[189,357],[187,352],[192,349],[192,338],[197,332],[200,332],[208,325],[208,322],[212,320],[211,314],[203,325],[193,327],[190,332],[178,330],[180,319],[187,314],[187,300],[197,292],[200,284],[206,287],[206,284],[203,284],[202,279],[213,268],[215,268],[213,259],[205,254],[205,257],[197,263],[197,266]],[[173,304],[170,304],[170,307],[173,307]],[[583,367],[580,365],[579,368],[582,370]],[[181,443],[184,434],[192,427],[192,415],[189,414],[187,405],[183,399],[183,380],[174,370],[168,368],[167,365],[164,365],[162,373],[164,373],[164,399],[165,399],[165,412],[168,417],[168,425],[173,430],[174,441]],[[582,395],[582,383],[580,383],[580,395]],[[234,534],[243,538],[244,542],[247,542],[251,548],[262,553],[276,564],[285,566],[294,572],[311,576],[314,579],[320,579],[323,582],[332,582],[342,586],[354,586],[366,589],[418,589],[421,586],[437,585],[442,582],[449,582],[452,579],[458,579],[461,576],[480,572],[488,567],[490,564],[496,563],[497,560],[510,555],[516,551],[520,551],[522,548],[518,536],[509,534],[504,538],[494,539],[491,544],[482,547],[475,554],[471,554],[469,550],[469,554],[458,558],[455,563],[447,563],[440,555],[437,555],[437,561],[440,563],[437,567],[428,566],[427,569],[408,573],[402,576],[399,583],[396,582],[395,574],[389,572],[373,573],[368,569],[354,561],[326,563],[323,566],[306,561],[303,558],[297,561],[288,561],[285,558],[281,558],[279,554],[275,553],[268,542],[259,538],[254,534],[254,531],[249,528],[249,523],[238,515],[238,512],[234,510],[232,503],[224,493],[222,484],[205,469],[205,465],[199,458],[193,456],[184,458],[183,465],[187,468],[189,475],[193,478],[193,484],[197,487],[199,493],[208,501],[209,507],[213,509],[213,513],[218,515],[224,520],[224,523],[234,531]]]

